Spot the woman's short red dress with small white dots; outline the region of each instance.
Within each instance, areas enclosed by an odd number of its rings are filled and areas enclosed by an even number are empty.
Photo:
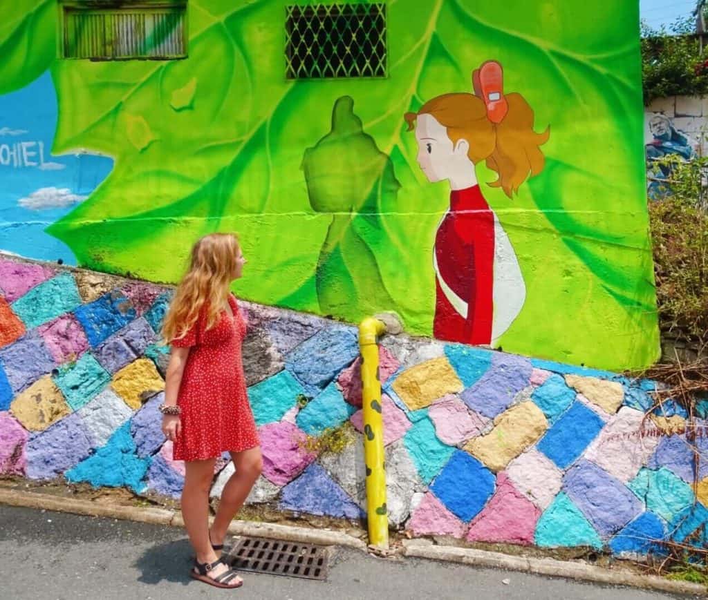
[[[210,459],[260,444],[241,361],[246,323],[231,294],[229,305],[233,317],[223,310],[207,330],[202,310],[194,327],[172,341],[176,348],[190,348],[177,396],[181,432],[174,442],[175,460]]]

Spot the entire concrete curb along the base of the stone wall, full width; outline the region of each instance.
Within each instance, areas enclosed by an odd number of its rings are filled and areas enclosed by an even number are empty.
[[[109,519],[124,519],[155,525],[184,527],[182,515],[174,510],[152,507],[101,505],[91,500],[59,498],[57,496],[29,491],[0,488],[0,504],[85,514],[90,517],[106,517]],[[255,536],[284,541],[316,543],[321,546],[345,546],[367,551],[365,541],[344,534],[341,531],[292,527],[290,525],[274,523],[234,521],[229,527],[229,534],[234,536]],[[526,572],[532,575],[566,577],[571,580],[607,585],[624,585],[669,592],[671,594],[687,594],[692,596],[707,595],[706,588],[700,584],[667,580],[663,577],[657,577],[656,575],[636,575],[636,573],[625,570],[608,570],[605,567],[595,567],[585,563],[573,563],[564,560],[555,560],[553,558],[527,558],[476,550],[474,548],[435,546],[430,540],[423,539],[404,540],[401,554],[410,558],[444,560],[450,563],[460,563],[475,567],[491,567]]]

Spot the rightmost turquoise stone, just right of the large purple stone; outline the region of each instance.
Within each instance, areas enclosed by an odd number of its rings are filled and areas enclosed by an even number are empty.
[[[646,509],[670,522],[685,507],[693,504],[693,488],[668,469],[642,468],[627,486]]]

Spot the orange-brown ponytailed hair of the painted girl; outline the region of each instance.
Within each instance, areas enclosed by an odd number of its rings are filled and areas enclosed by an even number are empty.
[[[501,84],[501,65],[496,61],[488,63],[498,66]],[[475,90],[474,94],[440,95],[426,102],[417,112],[406,112],[404,119],[411,131],[418,115],[430,114],[447,128],[452,143],[467,140],[469,160],[475,165],[486,160],[487,167],[498,174],[498,180],[489,185],[501,187],[511,198],[523,182],[543,170],[545,161],[539,146],[548,141],[550,128],[542,134],[533,130],[533,110],[522,95],[510,93],[501,97],[506,112],[499,118],[490,114],[487,102],[480,98],[479,90]]]

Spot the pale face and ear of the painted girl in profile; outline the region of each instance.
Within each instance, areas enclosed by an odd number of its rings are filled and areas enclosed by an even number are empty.
[[[432,114],[420,114],[416,119],[416,140],[418,141],[418,165],[430,183],[442,180],[457,180],[469,177],[474,172],[474,164],[467,152],[469,143],[465,139],[452,143],[447,128]]]

